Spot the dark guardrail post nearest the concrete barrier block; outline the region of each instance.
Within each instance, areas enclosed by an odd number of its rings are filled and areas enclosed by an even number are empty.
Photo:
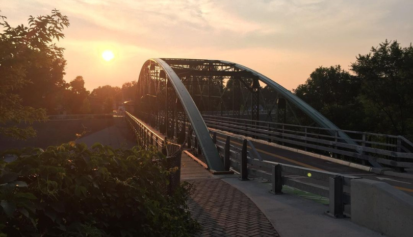
[[[343,177],[335,176],[330,178],[330,205],[329,215],[334,218],[345,218],[344,203],[343,203]]]

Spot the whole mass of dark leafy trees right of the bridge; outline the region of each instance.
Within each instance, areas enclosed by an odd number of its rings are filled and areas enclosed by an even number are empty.
[[[358,55],[351,72],[317,68],[294,93],[346,130],[413,134],[413,47],[384,41]]]

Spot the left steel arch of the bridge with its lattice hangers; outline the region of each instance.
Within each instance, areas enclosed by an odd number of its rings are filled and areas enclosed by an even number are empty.
[[[163,72],[159,70],[159,72],[156,73],[156,75],[149,75],[151,72],[147,70],[147,66],[152,67],[153,63],[156,63],[157,66],[162,68]],[[161,76],[161,73],[165,73],[165,75]],[[144,74],[144,75],[142,75]],[[218,153],[217,147],[215,146],[211,135],[209,133],[209,130],[207,128],[207,125],[205,125],[202,116],[196,107],[194,101],[192,100],[190,93],[188,90],[185,88],[185,85],[182,83],[180,78],[176,75],[174,70],[166,63],[164,60],[159,59],[159,58],[154,58],[154,59],[149,59],[148,61],[145,62],[144,66],[141,69],[141,75],[139,76],[139,79],[145,80],[145,76],[153,76],[156,78],[162,78],[165,77],[165,80],[160,79],[159,80],[159,86],[158,86],[158,95],[157,96],[157,101],[160,103],[158,107],[165,111],[165,114],[163,116],[163,121],[164,124],[161,124],[160,130],[163,130],[162,128],[165,128],[165,133],[167,134],[168,137],[176,137],[178,135],[182,135],[183,133],[185,134],[185,121],[186,118],[188,118],[189,122],[191,123],[192,130],[195,132],[196,140],[197,143],[199,144],[199,147],[202,150],[202,153],[207,160],[208,168],[210,170],[215,170],[215,171],[224,171],[224,165],[222,163],[222,159]],[[150,81],[150,79],[149,79]],[[146,83],[148,85],[153,85],[152,83]],[[150,89],[150,88],[149,88]],[[145,92],[147,91],[148,88],[145,88],[145,82],[139,82],[138,81],[138,90],[140,90],[140,94],[142,95],[141,99],[144,99]],[[149,94],[149,97],[152,95]],[[138,98],[139,99],[139,98]],[[178,101],[178,100],[179,101]],[[145,101],[145,100],[143,100]],[[165,101],[165,102],[164,102]],[[178,103],[180,102],[180,103]],[[179,113],[178,110],[181,110],[182,105],[184,111],[184,114]],[[164,106],[165,105],[165,106]],[[145,106],[145,105],[141,105]],[[146,105],[147,106],[147,105]],[[142,110],[146,111],[151,111],[153,108],[142,108]],[[139,111],[141,112],[141,111]],[[142,117],[145,117],[143,115]],[[178,119],[180,118],[180,119]],[[159,119],[159,118],[158,118]],[[182,124],[178,124],[182,123]]]

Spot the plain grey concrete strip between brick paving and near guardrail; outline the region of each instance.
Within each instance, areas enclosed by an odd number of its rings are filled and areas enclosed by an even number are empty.
[[[281,237],[385,236],[356,225],[349,218],[333,219],[325,215],[326,205],[296,195],[273,195],[269,193],[271,186],[262,180],[240,181],[237,177],[221,180],[250,198]]]

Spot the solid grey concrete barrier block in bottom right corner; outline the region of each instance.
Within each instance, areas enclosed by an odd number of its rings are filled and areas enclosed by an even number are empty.
[[[411,237],[413,197],[388,183],[353,179],[351,221],[390,237]]]

